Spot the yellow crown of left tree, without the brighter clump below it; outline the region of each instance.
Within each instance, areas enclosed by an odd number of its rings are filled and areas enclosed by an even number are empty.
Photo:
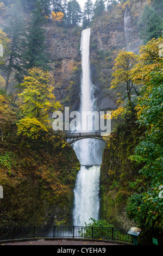
[[[60,102],[55,101],[53,79],[48,71],[30,69],[21,86],[24,90],[18,96],[24,114],[46,123],[49,110],[54,111],[61,107]]]

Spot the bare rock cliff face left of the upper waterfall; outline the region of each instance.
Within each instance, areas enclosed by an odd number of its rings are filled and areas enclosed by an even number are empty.
[[[82,28],[65,29],[50,23],[46,45],[52,58],[52,75],[57,100],[78,108],[80,90],[80,35]]]

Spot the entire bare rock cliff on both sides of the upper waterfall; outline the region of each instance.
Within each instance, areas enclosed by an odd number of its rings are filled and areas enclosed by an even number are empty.
[[[144,1],[133,1],[130,6],[118,4],[111,11],[97,17],[91,27],[90,62],[92,82],[95,85],[97,107],[100,110],[116,108],[116,95],[110,90],[112,68],[119,50],[127,49],[124,16],[128,10],[129,50],[139,52],[138,23],[141,19]],[[80,37],[82,28],[65,29],[50,24],[47,26],[47,46],[53,64],[55,95],[64,106],[78,109],[80,97]]]

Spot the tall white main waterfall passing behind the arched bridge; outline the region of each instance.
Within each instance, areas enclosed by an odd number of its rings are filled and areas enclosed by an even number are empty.
[[[83,111],[93,111],[95,103],[95,98],[93,97],[93,84],[90,76],[90,33],[90,28],[82,31],[80,44],[80,51],[82,54],[80,113]],[[89,127],[87,129],[89,130]],[[85,222],[90,222],[90,218],[98,220],[102,144],[97,139],[82,139],[75,142],[73,148],[82,164],[74,188],[73,224],[83,226],[85,225]]]

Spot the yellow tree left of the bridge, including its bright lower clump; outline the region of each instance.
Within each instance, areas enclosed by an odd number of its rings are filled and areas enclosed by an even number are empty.
[[[18,134],[32,139],[39,137],[40,132],[47,132],[49,113],[61,107],[55,101],[53,80],[48,71],[32,68],[21,84],[23,92],[19,94],[18,105],[24,118],[18,124]]]

